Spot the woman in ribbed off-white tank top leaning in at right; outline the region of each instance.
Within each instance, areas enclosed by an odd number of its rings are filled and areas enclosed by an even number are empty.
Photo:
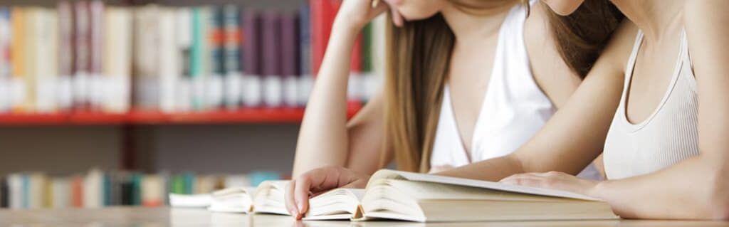
[[[582,3],[545,1],[564,15]],[[534,138],[438,174],[585,194],[622,218],[729,220],[729,1],[612,3],[629,21]],[[600,154],[608,180],[574,177]],[[312,173],[301,178],[368,178],[341,167]]]

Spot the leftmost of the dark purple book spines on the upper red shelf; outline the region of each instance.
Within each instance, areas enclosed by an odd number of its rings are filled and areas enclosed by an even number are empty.
[[[243,105],[258,106],[261,91],[261,17],[253,10],[243,12]]]

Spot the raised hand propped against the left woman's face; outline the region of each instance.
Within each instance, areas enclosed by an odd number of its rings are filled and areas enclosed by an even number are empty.
[[[349,31],[359,32],[364,25],[388,9],[392,13],[393,23],[402,26],[405,20],[397,9],[392,7],[396,1],[401,0],[382,0],[373,8],[373,0],[344,0],[335,19],[335,27],[344,27]]]

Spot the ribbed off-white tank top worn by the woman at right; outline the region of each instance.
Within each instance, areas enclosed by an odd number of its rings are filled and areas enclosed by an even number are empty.
[[[620,105],[605,140],[604,164],[608,179],[630,178],[661,170],[698,155],[698,94],[685,32],[676,68],[666,94],[648,119],[628,122],[625,100],[643,42],[639,31],[625,71]]]

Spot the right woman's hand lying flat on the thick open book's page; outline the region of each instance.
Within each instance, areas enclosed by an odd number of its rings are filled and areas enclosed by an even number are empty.
[[[595,188],[599,182],[577,178],[564,172],[524,173],[504,178],[501,183],[537,188],[553,188],[572,191],[577,194],[596,197]]]

